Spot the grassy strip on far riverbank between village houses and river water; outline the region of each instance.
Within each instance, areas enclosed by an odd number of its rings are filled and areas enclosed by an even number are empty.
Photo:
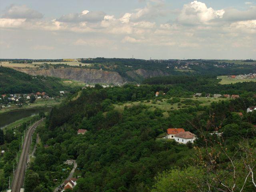
[[[32,109],[32,108],[41,108],[41,107],[50,107],[54,105],[60,104],[62,101],[61,98],[55,98],[55,99],[37,99],[34,103],[27,105],[24,104],[22,107],[16,106],[12,104],[11,107],[5,107],[0,109],[0,114],[10,112],[13,110],[23,110],[23,109]]]

